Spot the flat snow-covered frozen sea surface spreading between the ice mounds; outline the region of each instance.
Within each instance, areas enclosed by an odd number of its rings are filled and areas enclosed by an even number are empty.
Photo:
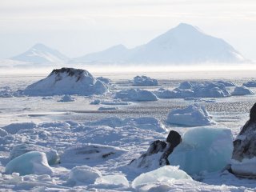
[[[118,90],[134,88],[131,86],[131,80],[136,75],[145,74],[150,78],[156,78],[158,80],[159,86],[148,86],[148,87],[138,87],[146,90],[157,90],[160,87],[166,89],[174,89],[178,87],[180,82],[183,81],[214,81],[214,80],[225,80],[234,82],[237,86],[241,86],[243,82],[248,82],[250,80],[255,80],[256,71],[172,71],[172,72],[145,72],[145,73],[97,73],[91,72],[95,77],[110,78],[111,86],[110,93],[104,96],[95,97],[84,97],[74,95],[74,102],[58,102],[62,96],[52,96],[52,97],[11,97],[11,98],[0,98],[0,127],[7,126],[11,123],[21,123],[21,122],[34,122],[37,125],[43,125],[46,122],[76,122],[81,125],[84,122],[94,122],[101,120],[102,118],[140,118],[140,117],[152,117],[158,119],[162,124],[166,126],[168,130],[179,130],[180,132],[186,131],[186,127],[174,126],[166,123],[167,114],[172,109],[182,108],[193,103],[199,103],[206,106],[206,110],[213,117],[214,122],[217,122],[215,127],[227,127],[232,131],[235,137],[241,126],[243,126],[249,118],[250,107],[256,102],[256,96],[246,95],[246,96],[232,96],[227,98],[202,98],[201,101],[194,100],[184,100],[183,98],[174,99],[159,99],[154,102],[128,102],[128,105],[111,105],[113,101],[113,95]],[[45,78],[47,74],[6,74],[0,75],[0,89],[9,86],[10,90],[22,90],[26,86],[33,82]],[[234,87],[228,88],[230,91]],[[256,94],[256,89],[251,88]],[[104,102],[110,102],[110,105],[99,104],[91,105],[94,99],[100,99]],[[99,107],[105,107],[106,110],[98,110]],[[111,109],[112,108],[112,109]],[[109,110],[108,110],[109,109]],[[114,110],[113,110],[114,109]],[[78,129],[78,124],[76,124],[76,129]],[[71,124],[70,124],[71,125]],[[52,127],[57,127],[55,130]],[[14,143],[29,142],[34,144],[39,144],[42,146],[47,146],[54,150],[57,150],[59,154],[63,154],[66,147],[76,145],[79,142],[86,142],[86,136],[83,134],[70,132],[67,130],[62,130],[63,125],[58,127],[56,124],[52,126],[51,129],[47,130],[50,132],[48,138],[32,137],[32,132],[27,134],[22,134],[21,138],[14,139]],[[39,127],[39,126],[38,126]],[[96,128],[95,128],[96,129]],[[98,129],[98,130],[97,130]],[[106,132],[102,128],[97,127],[96,130],[91,130],[90,138],[99,137],[100,134],[105,134]],[[98,132],[97,132],[98,131]],[[113,130],[114,131],[114,130]],[[129,133],[129,131],[112,132],[109,131],[107,134],[114,133],[116,138],[111,138],[111,142],[103,142],[95,139],[96,144],[109,145],[120,147],[122,150],[126,150],[125,154],[122,154],[116,159],[110,159],[106,162],[88,162],[86,166],[93,166],[102,172],[103,175],[108,174],[122,174],[125,175],[129,183],[138,176],[138,173],[128,170],[125,166],[129,164],[130,160],[133,158],[138,158],[140,154],[146,151],[150,142],[156,139],[165,139],[168,134],[152,134],[151,132],[136,132],[134,138],[138,136],[138,139],[127,139],[126,142],[113,142],[114,139],[119,139],[120,135],[122,137],[132,138],[134,132]],[[36,135],[33,133],[33,135]],[[84,137],[85,139],[83,139]],[[104,137],[103,137],[104,139]],[[46,140],[46,142],[43,142]],[[90,140],[90,139],[89,139]],[[93,142],[91,139],[90,142]],[[98,141],[98,142],[97,142]],[[131,142],[129,142],[131,141]],[[58,143],[59,142],[59,143]],[[8,157],[10,155],[10,150],[14,146],[14,143],[10,142],[8,146],[1,146],[3,149],[0,152],[0,166],[1,170],[4,170],[6,162],[8,162]],[[38,178],[37,176],[31,175],[27,178],[22,178],[22,176],[8,176],[2,174],[0,178],[0,190],[41,190],[41,191],[59,191],[59,190],[94,190],[94,191],[106,191],[106,190],[121,190],[121,191],[134,191],[135,189],[129,186],[114,186],[114,185],[96,185],[96,184],[84,184],[69,186],[67,184],[68,175],[70,170],[74,166],[81,166],[81,162],[72,165],[62,163],[59,165],[52,166],[54,169],[54,174],[49,176],[50,178]],[[16,177],[16,180],[15,180]],[[19,177],[19,178],[17,178]],[[29,182],[24,182],[26,179]],[[183,182],[182,180],[173,181],[172,185],[169,183],[154,183],[153,186],[142,186],[136,190],[151,190],[151,191],[255,191],[256,184],[255,180],[245,179],[245,178],[235,178],[233,175],[228,173],[210,173],[205,174],[202,178],[197,179],[199,182]]]

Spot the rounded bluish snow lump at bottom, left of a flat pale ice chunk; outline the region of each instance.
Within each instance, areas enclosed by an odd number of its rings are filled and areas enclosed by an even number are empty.
[[[67,180],[68,186],[85,186],[94,184],[97,178],[102,174],[90,166],[76,166],[70,170],[69,178]]]

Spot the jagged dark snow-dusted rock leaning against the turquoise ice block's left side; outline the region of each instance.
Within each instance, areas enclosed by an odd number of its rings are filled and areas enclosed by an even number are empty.
[[[142,168],[156,168],[154,166],[166,166],[170,165],[168,156],[173,152],[174,148],[182,142],[182,137],[178,132],[170,130],[166,142],[156,140],[150,144],[146,154],[138,159],[134,159],[130,162],[130,165],[134,165]]]

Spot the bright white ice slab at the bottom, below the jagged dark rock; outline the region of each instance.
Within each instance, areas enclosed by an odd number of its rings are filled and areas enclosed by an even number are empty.
[[[132,187],[137,188],[143,184],[155,183],[155,182],[172,182],[177,179],[187,179],[192,181],[190,175],[186,174],[183,170],[179,170],[178,166],[162,166],[157,170],[152,170],[145,174],[140,174],[132,182]]]

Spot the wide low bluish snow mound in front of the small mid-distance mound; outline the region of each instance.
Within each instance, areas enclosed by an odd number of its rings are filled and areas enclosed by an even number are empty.
[[[146,102],[158,100],[157,96],[152,92],[139,89],[121,90],[115,94],[115,98],[121,98],[122,100],[131,102]]]

